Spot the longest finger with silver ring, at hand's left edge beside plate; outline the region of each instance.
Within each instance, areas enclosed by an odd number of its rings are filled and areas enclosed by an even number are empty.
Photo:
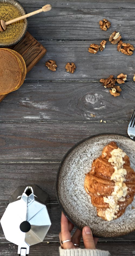
[[[64,241],[64,240],[70,240],[70,239],[71,239],[71,235],[69,232],[68,219],[62,212],[62,214],[61,214],[61,240]],[[75,248],[75,246],[73,245],[73,243],[71,241],[63,243],[62,247],[64,249]]]

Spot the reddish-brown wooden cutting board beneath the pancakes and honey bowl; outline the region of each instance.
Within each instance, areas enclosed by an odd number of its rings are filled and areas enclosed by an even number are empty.
[[[42,59],[46,54],[46,49],[29,32],[26,32],[24,38],[12,46],[13,50],[19,52],[26,63],[27,73]],[[8,95],[0,95],[0,102]]]

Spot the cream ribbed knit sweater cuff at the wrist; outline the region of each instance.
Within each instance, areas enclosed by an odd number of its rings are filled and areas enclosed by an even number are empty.
[[[109,251],[97,250],[97,249],[62,249],[59,247],[60,256],[109,256]]]

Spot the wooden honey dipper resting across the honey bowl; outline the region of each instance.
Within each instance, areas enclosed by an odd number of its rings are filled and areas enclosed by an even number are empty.
[[[9,25],[9,24],[11,24],[11,23],[14,23],[14,22],[16,22],[16,21],[21,21],[21,19],[28,18],[28,17],[30,17],[30,16],[32,16],[32,15],[35,15],[35,14],[38,14],[38,13],[40,13],[40,12],[48,12],[48,11],[50,11],[51,9],[52,9],[52,6],[51,6],[50,4],[47,4],[47,5],[43,6],[41,9],[39,9],[39,10],[37,10],[37,11],[30,12],[30,13],[25,14],[25,15],[23,15],[23,16],[20,16],[20,17],[18,17],[18,18],[12,19],[11,21],[6,21],[6,22],[5,22],[5,21],[3,21],[3,20],[1,19],[1,22],[0,22],[0,32],[5,31],[6,28],[7,28],[7,25]]]

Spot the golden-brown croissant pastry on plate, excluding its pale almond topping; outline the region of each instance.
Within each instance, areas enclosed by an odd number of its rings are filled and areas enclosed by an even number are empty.
[[[109,204],[104,202],[104,197],[111,196],[114,191],[114,181],[111,180],[114,168],[108,160],[111,157],[112,150],[117,148],[118,146],[115,142],[110,142],[106,145],[103,148],[102,155],[93,161],[92,169],[85,177],[85,190],[90,195],[93,206],[97,209],[97,215],[104,220],[106,220],[105,211],[109,208]],[[131,204],[135,195],[135,172],[130,166],[130,160],[127,155],[123,157],[123,161],[123,168],[127,171],[125,184],[128,189],[125,200],[118,202],[117,218],[125,212],[126,207]]]

